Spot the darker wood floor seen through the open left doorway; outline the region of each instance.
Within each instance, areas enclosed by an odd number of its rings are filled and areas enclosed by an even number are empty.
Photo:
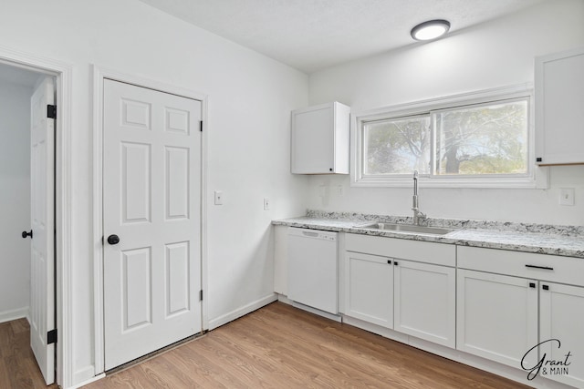
[[[30,349],[30,327],[26,319],[0,322],[0,388],[57,389],[47,386]]]

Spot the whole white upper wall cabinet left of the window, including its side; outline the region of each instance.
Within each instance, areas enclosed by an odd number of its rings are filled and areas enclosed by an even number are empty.
[[[338,102],[292,111],[292,173],[349,174],[349,116]]]

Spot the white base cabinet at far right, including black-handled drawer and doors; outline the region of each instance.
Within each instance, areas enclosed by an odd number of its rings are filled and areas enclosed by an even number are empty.
[[[584,387],[584,261],[463,246],[457,256],[457,348],[517,369],[541,363],[539,376]]]

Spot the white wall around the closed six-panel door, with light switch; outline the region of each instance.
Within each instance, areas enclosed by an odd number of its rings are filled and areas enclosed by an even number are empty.
[[[0,46],[73,67],[74,381],[93,369],[90,64],[209,96],[209,319],[273,292],[270,220],[302,214],[308,180],[289,171],[289,114],[308,105],[308,77],[137,0],[5,0]],[[214,206],[214,189],[224,205]],[[272,210],[263,210],[263,199]],[[17,232],[18,230],[16,230]]]

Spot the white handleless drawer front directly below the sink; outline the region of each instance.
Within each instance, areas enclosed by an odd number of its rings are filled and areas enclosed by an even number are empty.
[[[456,266],[456,246],[454,244],[351,233],[348,233],[345,239],[345,250],[347,251],[364,252],[366,254],[443,266]]]

